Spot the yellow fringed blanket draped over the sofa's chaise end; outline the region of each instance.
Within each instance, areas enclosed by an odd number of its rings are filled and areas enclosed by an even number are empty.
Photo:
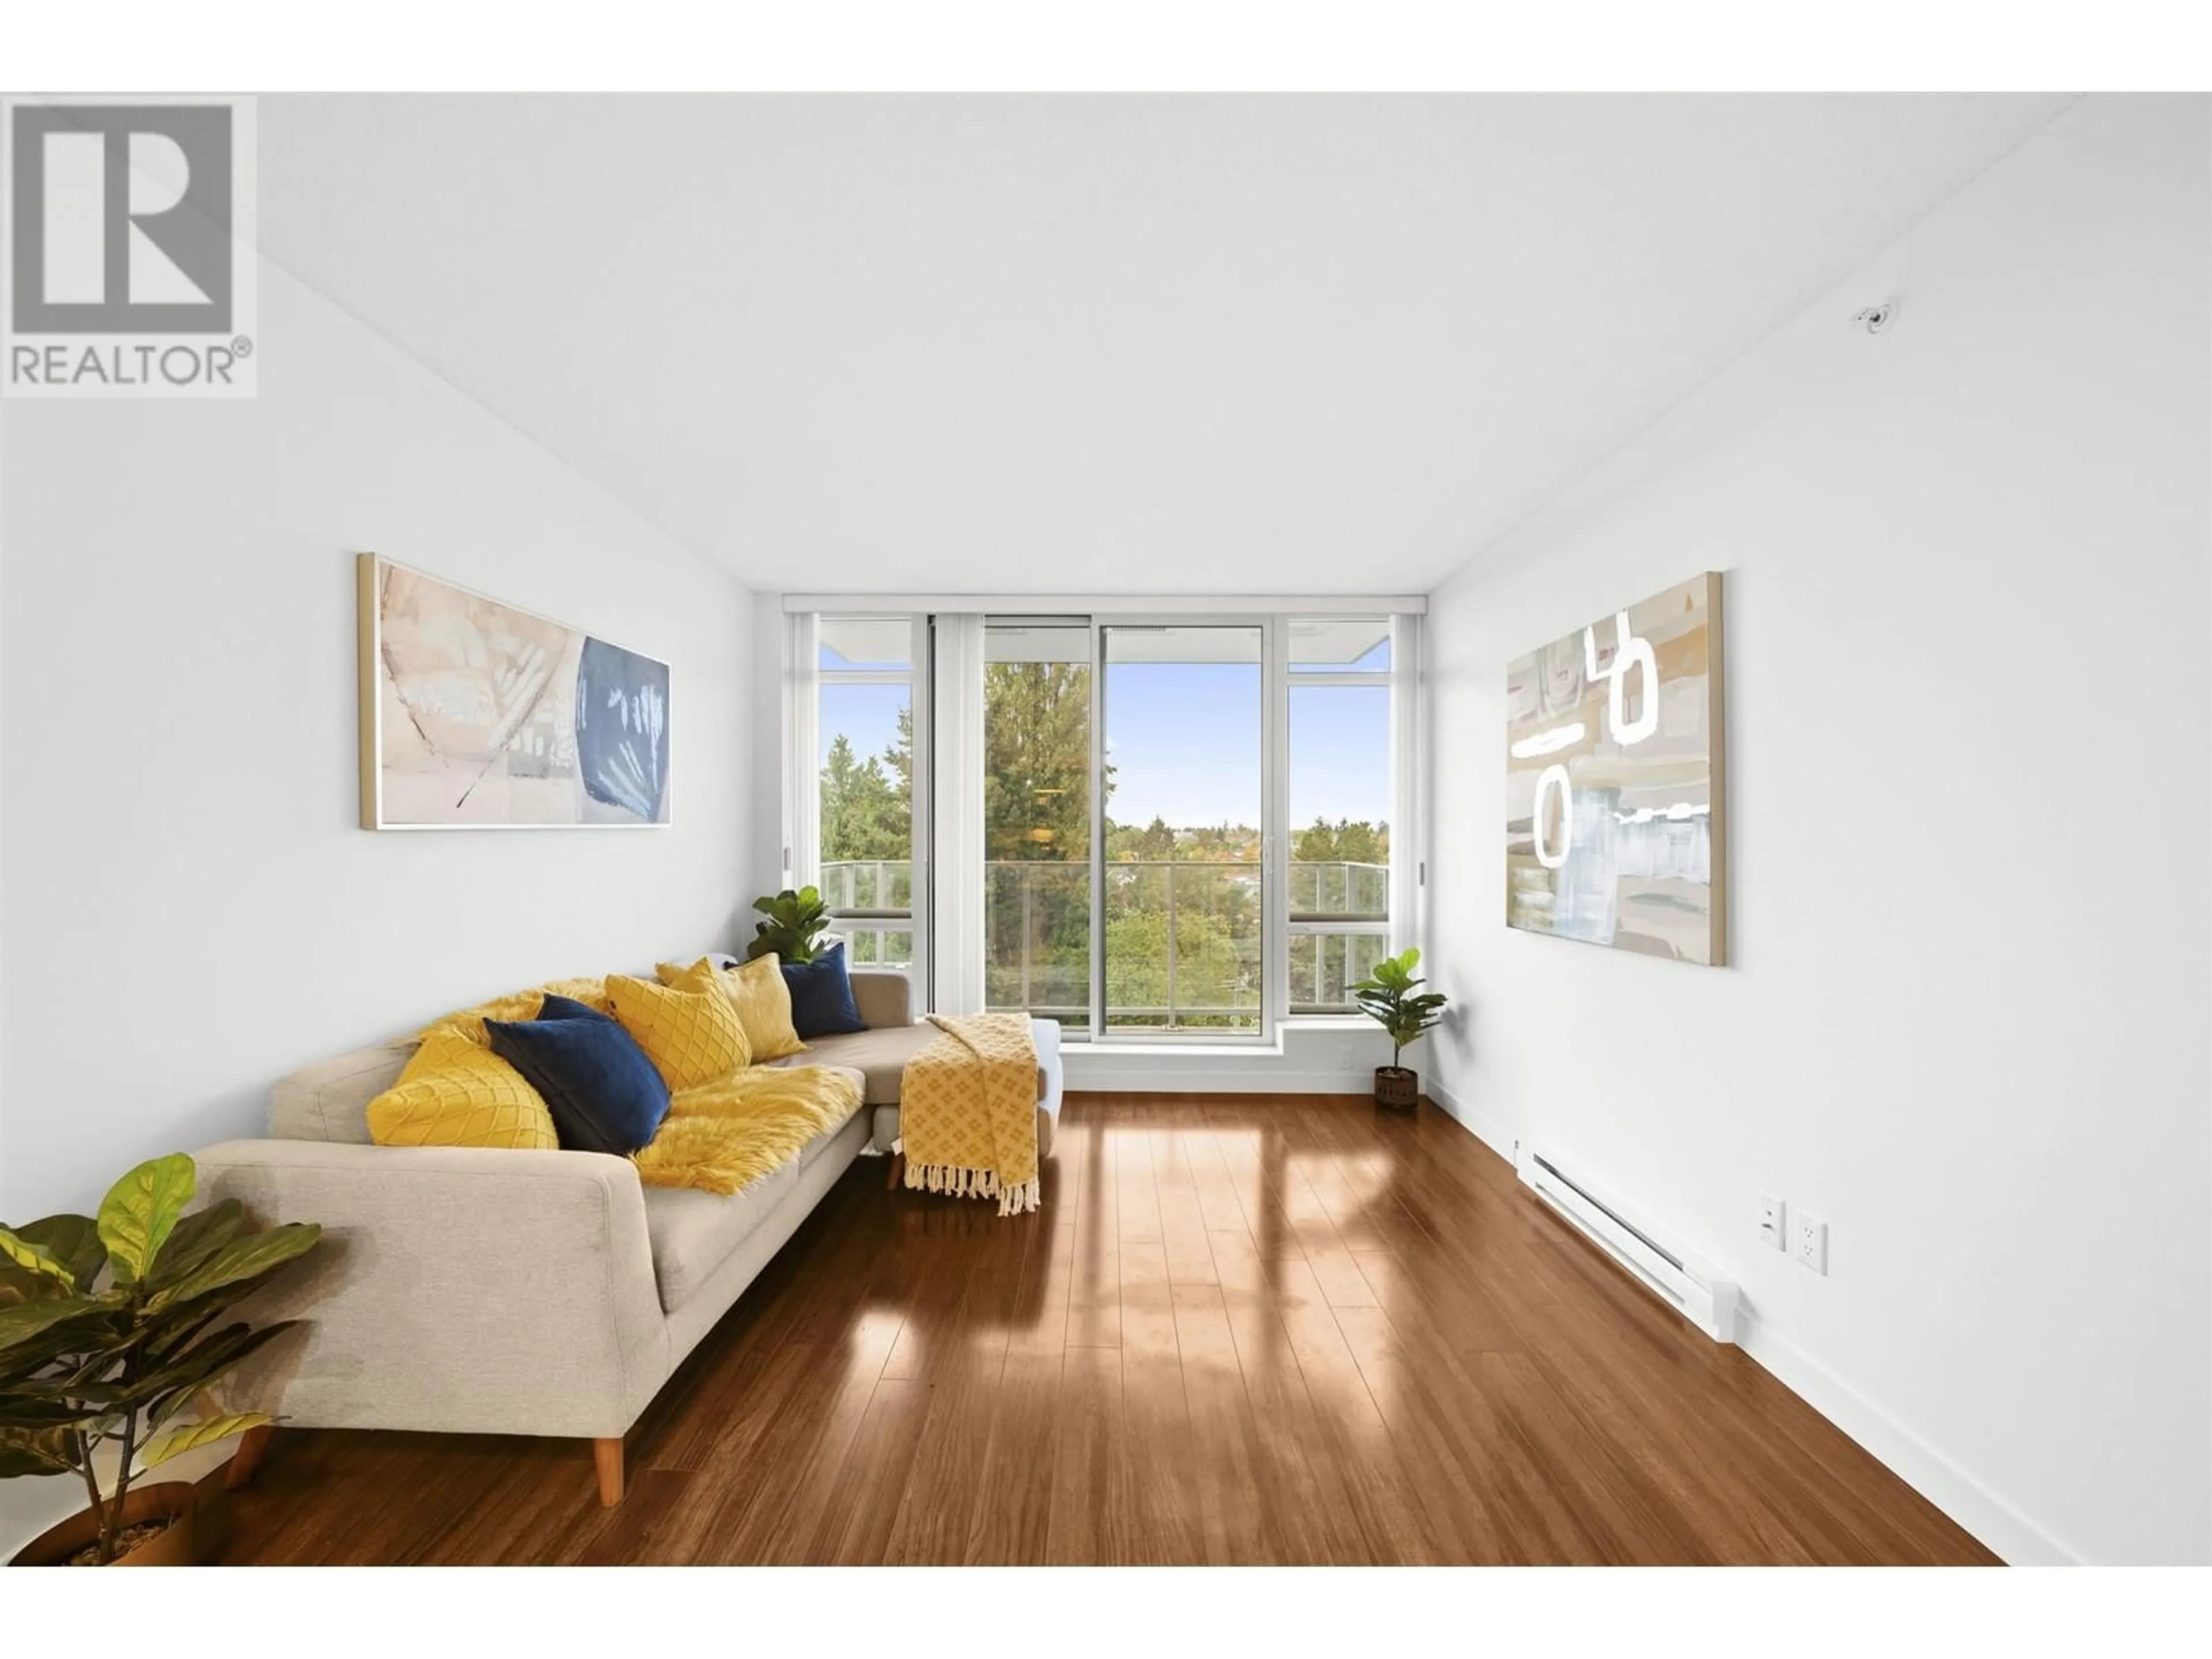
[[[929,1015],[938,1035],[898,1082],[907,1186],[1037,1208],[1037,1044],[1026,1013]]]

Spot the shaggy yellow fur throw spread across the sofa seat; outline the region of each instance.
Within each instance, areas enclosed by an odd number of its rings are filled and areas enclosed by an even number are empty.
[[[646,1186],[737,1192],[774,1175],[816,1135],[860,1110],[860,1084],[830,1066],[748,1066],[670,1095],[653,1146],[635,1155]]]

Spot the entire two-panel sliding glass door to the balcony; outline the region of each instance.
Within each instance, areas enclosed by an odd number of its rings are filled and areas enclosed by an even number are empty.
[[[1259,1037],[1267,626],[991,617],[984,1002],[1077,1037]]]

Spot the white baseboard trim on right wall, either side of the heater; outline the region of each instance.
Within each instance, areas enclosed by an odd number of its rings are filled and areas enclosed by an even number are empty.
[[[1458,1119],[1478,1141],[1498,1152],[1506,1164],[1513,1164],[1515,1130],[1511,1124],[1493,1113],[1475,1110],[1471,1102],[1460,1099],[1433,1077],[1427,1079],[1422,1093],[1449,1117]],[[1920,1436],[1761,1321],[1756,1312],[1739,1316],[1736,1347],[1759,1360],[1776,1383],[1843,1429],[1860,1451],[1973,1533],[2002,1562],[2011,1566],[2081,1566],[2084,1557],[2077,1551],[1966,1475]]]

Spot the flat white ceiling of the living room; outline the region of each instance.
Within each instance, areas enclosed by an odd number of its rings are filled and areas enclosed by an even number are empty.
[[[757,588],[1427,591],[2064,102],[265,97],[261,234]]]

